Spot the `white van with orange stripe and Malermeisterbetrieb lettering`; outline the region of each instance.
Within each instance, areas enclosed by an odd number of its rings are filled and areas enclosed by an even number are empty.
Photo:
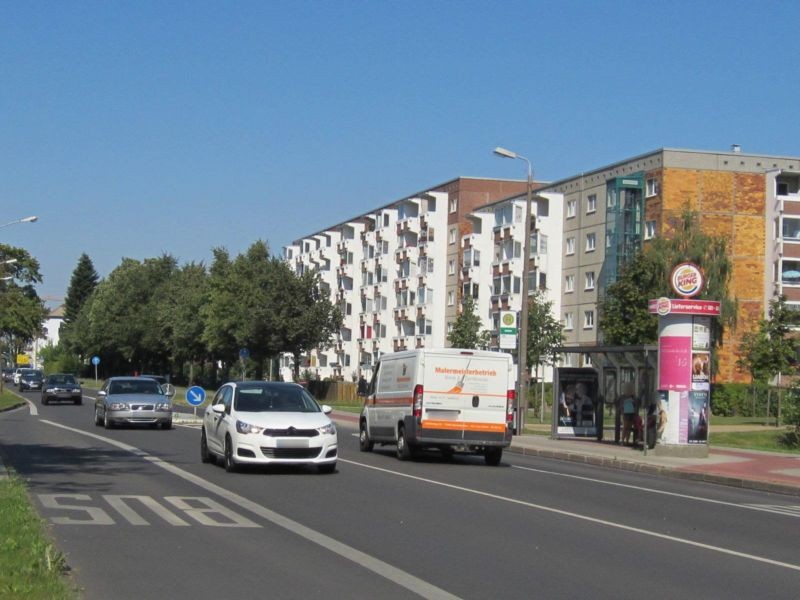
[[[359,419],[363,452],[397,444],[400,460],[419,448],[483,454],[497,465],[511,444],[514,367],[509,354],[481,350],[409,350],[375,368]]]

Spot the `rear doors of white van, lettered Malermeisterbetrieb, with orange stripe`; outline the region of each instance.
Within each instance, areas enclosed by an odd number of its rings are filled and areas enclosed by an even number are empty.
[[[495,352],[426,352],[422,435],[438,430],[465,441],[502,437],[510,364],[509,355]]]

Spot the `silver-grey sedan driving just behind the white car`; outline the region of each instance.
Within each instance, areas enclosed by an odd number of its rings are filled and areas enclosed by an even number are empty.
[[[111,377],[97,392],[94,424],[172,428],[172,396],[149,377]]]

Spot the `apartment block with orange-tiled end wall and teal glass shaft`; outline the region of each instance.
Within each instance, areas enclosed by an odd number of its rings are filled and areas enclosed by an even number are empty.
[[[685,207],[728,240],[738,325],[720,349],[721,381],[744,381],[742,335],[784,293],[800,308],[800,159],[663,148],[543,187],[564,197],[561,314],[568,345],[602,340],[597,302],[620,268]],[[795,237],[793,237],[795,236]],[[568,356],[582,366],[587,356]]]

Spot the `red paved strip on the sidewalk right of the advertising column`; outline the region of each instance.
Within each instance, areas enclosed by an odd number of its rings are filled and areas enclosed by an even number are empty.
[[[678,470],[800,486],[800,457],[762,455],[736,450],[715,449],[712,452],[714,455],[729,456],[739,460],[682,467]]]

